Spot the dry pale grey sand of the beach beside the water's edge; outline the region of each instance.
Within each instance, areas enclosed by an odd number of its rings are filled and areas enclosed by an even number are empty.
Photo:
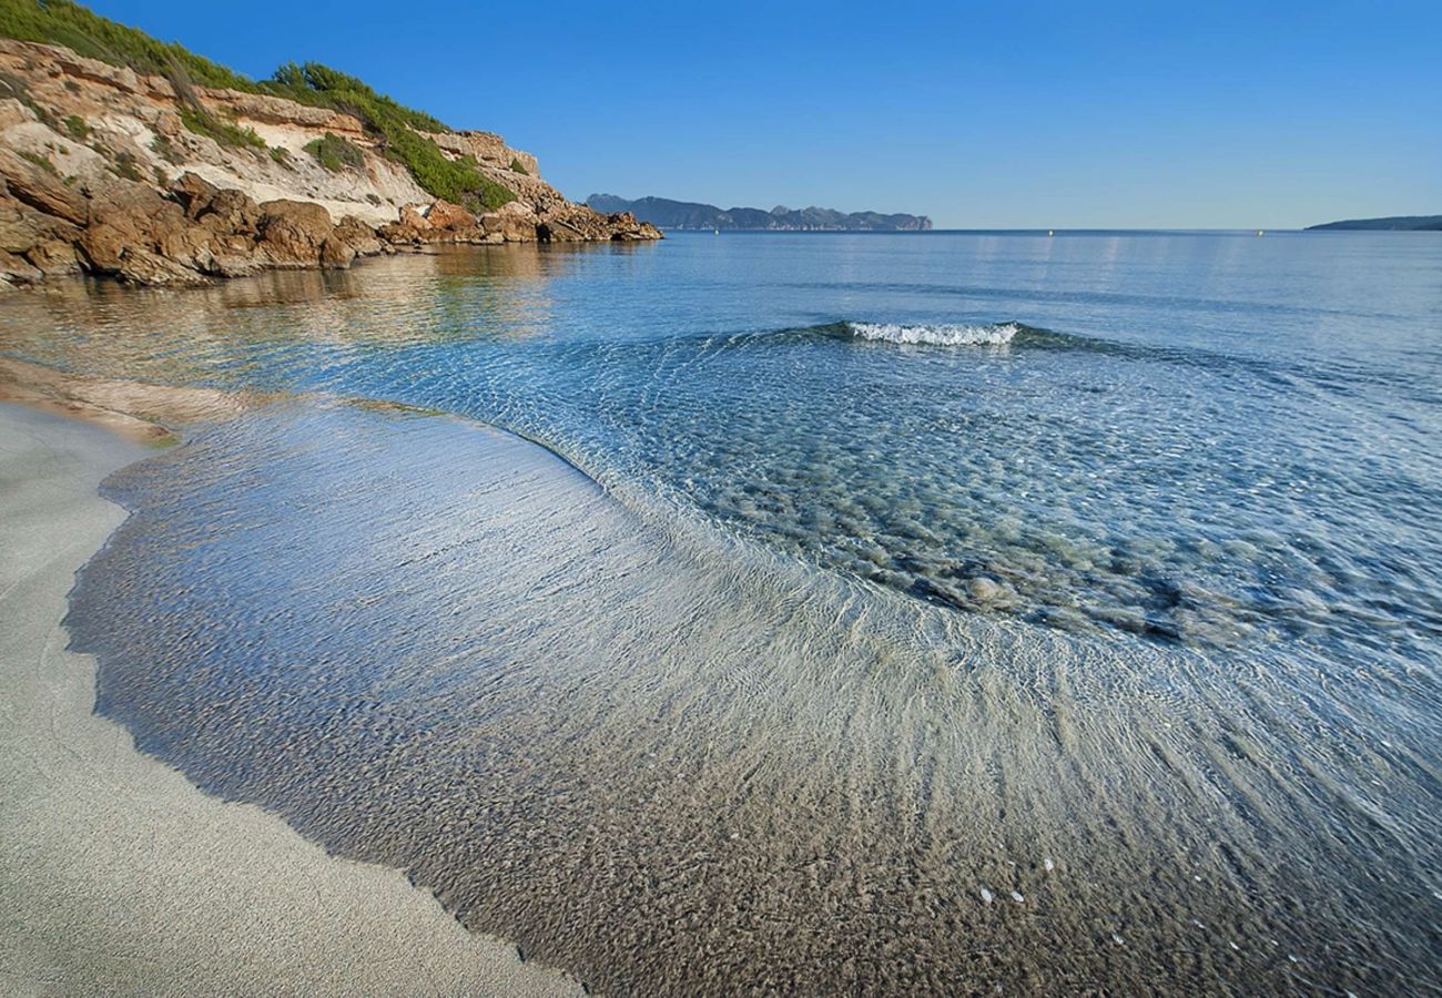
[[[0,979],[12,994],[583,994],[476,936],[404,874],[211,798],[94,712],[66,650],[75,571],[124,519],[101,480],[144,447],[0,404]]]

